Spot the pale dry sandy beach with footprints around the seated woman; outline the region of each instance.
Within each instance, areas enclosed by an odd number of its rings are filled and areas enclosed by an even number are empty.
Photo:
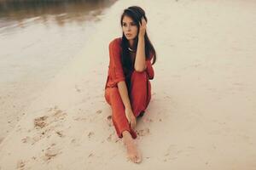
[[[108,43],[138,5],[156,48],[152,100],[134,164],[104,99]],[[256,2],[125,1],[23,110],[0,144],[0,169],[256,169]]]

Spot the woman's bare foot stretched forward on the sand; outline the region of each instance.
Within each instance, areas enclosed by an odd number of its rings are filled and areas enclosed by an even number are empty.
[[[142,161],[142,156],[139,150],[137,150],[137,145],[135,144],[134,139],[131,138],[131,133],[124,131],[122,134],[129,159],[134,163],[140,163]]]

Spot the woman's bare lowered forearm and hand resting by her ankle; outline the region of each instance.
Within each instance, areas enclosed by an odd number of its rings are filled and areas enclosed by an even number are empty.
[[[136,117],[134,116],[131,110],[131,102],[128,95],[128,90],[126,83],[124,81],[118,82],[119,94],[125,105],[125,116],[129,123],[131,123],[131,128],[135,129],[136,126]]]

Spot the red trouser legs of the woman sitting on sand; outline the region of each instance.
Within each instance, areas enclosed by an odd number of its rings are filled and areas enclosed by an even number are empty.
[[[129,91],[129,98],[131,101],[131,109],[134,116],[139,116],[142,111],[148,107],[151,99],[151,84],[148,81],[148,74],[146,71],[133,71],[131,74],[131,89]],[[105,99],[112,108],[113,125],[119,138],[122,138],[122,132],[127,130],[131,133],[133,139],[137,138],[137,133],[133,131],[125,116],[125,106],[119,95],[119,89],[116,87],[106,88]]]

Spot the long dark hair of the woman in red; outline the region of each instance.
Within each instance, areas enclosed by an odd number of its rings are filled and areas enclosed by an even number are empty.
[[[143,10],[143,8],[140,8],[138,6],[131,6],[129,8],[125,8],[123,14],[121,15],[121,20],[120,20],[120,24],[121,26],[123,25],[123,19],[125,16],[130,17],[137,25],[138,31],[140,30],[140,25],[139,22],[142,22],[142,19],[144,18],[146,20],[146,22],[148,22],[148,19],[145,15],[145,11]],[[154,50],[154,46],[152,45],[152,43],[150,42],[149,38],[148,38],[148,34],[147,31],[145,32],[145,54],[146,54],[146,59],[148,59],[150,57],[150,53],[152,53],[153,56],[153,65],[155,63],[156,60],[156,53]],[[137,37],[135,38],[135,47],[137,47],[137,42],[138,42],[138,32],[137,32]],[[122,42],[121,42],[121,47],[122,47],[122,54],[121,54],[121,61],[122,61],[122,65],[123,67],[125,67],[125,70],[133,70],[133,63],[131,60],[131,57],[129,56],[129,42],[127,40],[127,38],[125,37],[125,34],[123,32],[123,36],[122,36]]]

